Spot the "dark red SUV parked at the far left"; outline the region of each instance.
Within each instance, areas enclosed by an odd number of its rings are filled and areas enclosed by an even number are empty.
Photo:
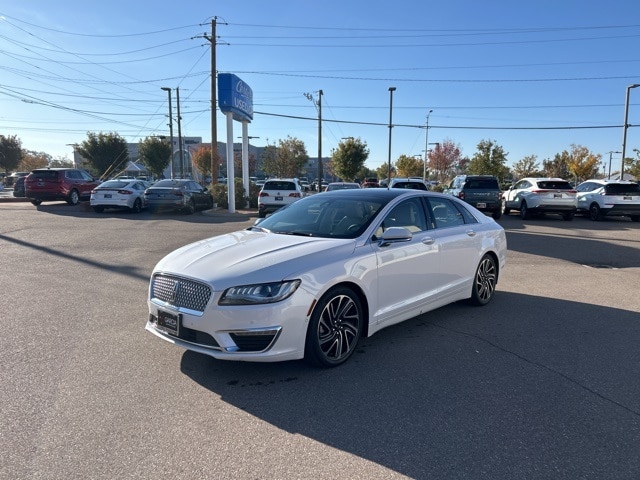
[[[25,196],[34,205],[50,200],[76,205],[80,200],[89,200],[91,190],[98,185],[100,180],[78,168],[39,168],[24,182]]]

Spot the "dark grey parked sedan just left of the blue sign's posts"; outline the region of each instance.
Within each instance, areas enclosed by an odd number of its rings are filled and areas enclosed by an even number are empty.
[[[209,190],[189,179],[160,180],[145,190],[144,201],[152,210],[193,213],[213,208],[213,197]]]

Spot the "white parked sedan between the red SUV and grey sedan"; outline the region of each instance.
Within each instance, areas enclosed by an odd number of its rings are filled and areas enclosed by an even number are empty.
[[[105,208],[126,208],[139,213],[145,207],[144,191],[148,184],[141,180],[107,180],[91,191],[90,205],[101,213]]]

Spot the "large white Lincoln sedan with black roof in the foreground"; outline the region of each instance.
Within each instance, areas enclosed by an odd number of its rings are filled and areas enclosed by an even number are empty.
[[[217,359],[333,367],[389,325],[487,304],[506,256],[502,227],[450,195],[327,192],[164,257],[146,329]]]

